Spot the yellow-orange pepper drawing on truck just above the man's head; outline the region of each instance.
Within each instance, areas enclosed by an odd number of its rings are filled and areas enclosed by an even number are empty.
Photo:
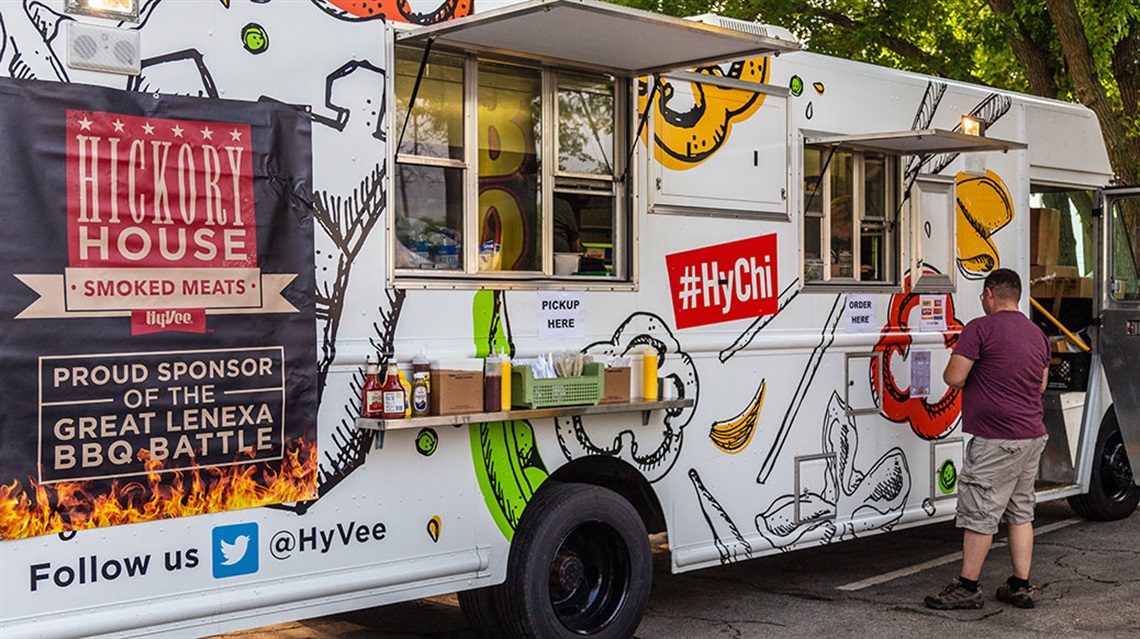
[[[1001,265],[991,238],[1013,219],[1013,197],[1001,177],[958,174],[958,265],[968,279],[984,278]]]

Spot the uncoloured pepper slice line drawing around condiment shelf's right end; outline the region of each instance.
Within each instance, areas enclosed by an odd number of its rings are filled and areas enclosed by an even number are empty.
[[[637,428],[627,428],[613,435],[604,445],[589,436],[580,417],[555,418],[554,425],[559,445],[567,459],[591,454],[617,457],[637,468],[650,482],[656,482],[676,464],[684,443],[684,428],[700,402],[700,384],[692,357],[681,349],[681,343],[665,320],[646,312],[629,316],[613,331],[609,342],[595,342],[583,349],[583,352],[641,357],[638,351],[642,345],[651,345],[657,350],[658,375],[662,383],[673,385],[678,398],[692,398],[692,407],[666,409],[660,429],[638,425]]]

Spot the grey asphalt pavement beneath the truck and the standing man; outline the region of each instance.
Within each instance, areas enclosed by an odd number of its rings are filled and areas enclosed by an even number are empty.
[[[958,574],[961,535],[936,524],[829,547],[670,574],[658,540],[640,639],[919,637],[934,639],[1140,637],[1140,514],[1088,522],[1065,502],[1037,507],[1037,607],[993,599],[1009,575],[1003,533],[982,583],[985,606],[939,612],[922,605]],[[455,595],[234,632],[226,639],[474,639]]]

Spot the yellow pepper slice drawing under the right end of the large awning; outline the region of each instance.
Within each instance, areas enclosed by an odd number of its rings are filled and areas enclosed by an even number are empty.
[[[763,84],[768,81],[771,58],[749,58],[733,63],[727,74],[718,66],[697,71],[714,77]],[[764,93],[693,82],[694,104],[689,110],[675,110],[669,104],[676,93],[673,84],[660,77],[656,81],[660,96],[653,124],[653,156],[657,162],[674,171],[692,169],[708,159],[728,139],[732,123],[748,120],[764,104]],[[649,93],[649,85],[642,82],[637,91],[638,109],[645,108]],[[646,141],[646,133],[642,136],[642,141]]]

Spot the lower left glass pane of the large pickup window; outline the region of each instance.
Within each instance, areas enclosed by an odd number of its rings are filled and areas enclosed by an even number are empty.
[[[396,267],[463,270],[463,170],[396,164]]]

